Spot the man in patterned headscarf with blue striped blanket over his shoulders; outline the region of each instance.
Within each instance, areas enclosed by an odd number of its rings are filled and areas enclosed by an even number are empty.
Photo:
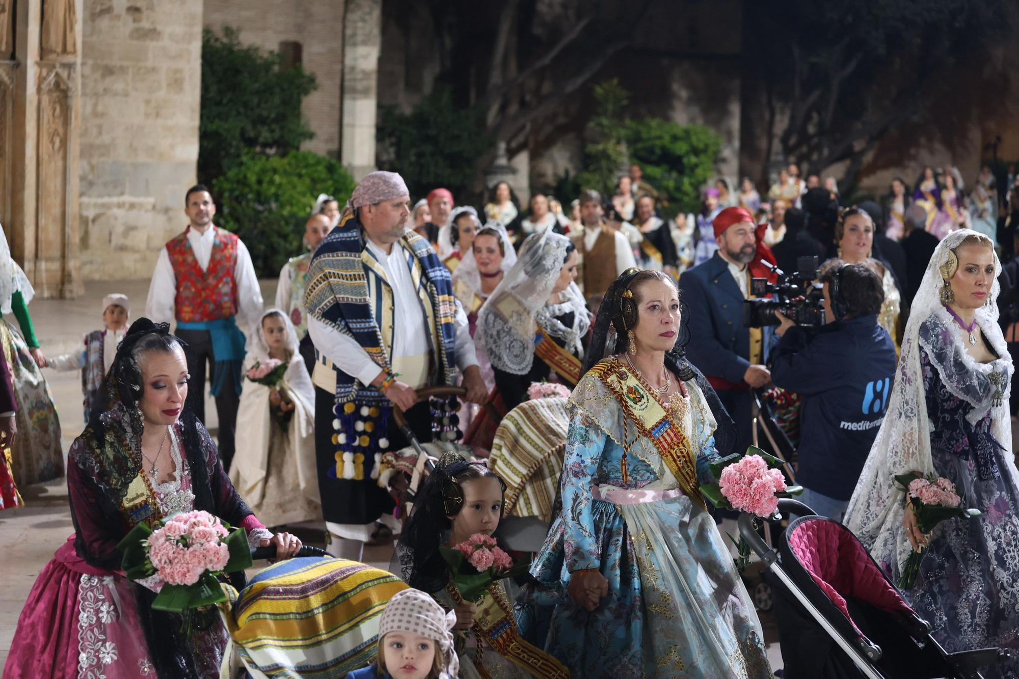
[[[322,513],[330,552],[355,561],[365,542],[383,540],[399,526],[378,482],[386,476],[382,454],[408,445],[392,408],[400,408],[426,441],[431,413],[416,389],[453,384],[459,368],[468,400],[487,397],[449,271],[408,228],[408,200],[399,174],[366,175],[308,271]]]

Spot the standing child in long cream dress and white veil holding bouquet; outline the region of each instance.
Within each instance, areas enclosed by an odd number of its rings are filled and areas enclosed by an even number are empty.
[[[266,310],[248,340],[230,480],[270,526],[321,518],[315,470],[315,391],[293,324]]]

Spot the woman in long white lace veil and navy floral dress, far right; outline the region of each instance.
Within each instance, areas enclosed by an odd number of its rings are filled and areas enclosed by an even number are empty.
[[[949,650],[1019,642],[1013,366],[998,325],[1000,273],[985,236],[960,229],[938,244],[913,301],[884,421],[846,514],[893,581],[912,544],[927,545],[917,584],[904,593]],[[920,534],[894,479],[910,471],[949,478],[963,506],[982,515]]]

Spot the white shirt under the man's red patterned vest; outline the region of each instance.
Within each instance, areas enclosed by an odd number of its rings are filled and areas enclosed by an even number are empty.
[[[195,259],[203,271],[209,268],[209,258],[212,257],[212,246],[216,241],[216,232],[210,225],[204,233],[197,228],[187,229],[187,243],[191,244]],[[245,334],[251,330],[252,323],[262,315],[262,290],[258,285],[252,256],[244,242],[237,240],[237,262],[233,267],[233,281],[237,286],[237,326]],[[156,269],[152,272],[152,282],[149,284],[149,298],[145,303],[145,315],[154,323],[172,323],[173,300],[177,295],[177,277],[170,263],[170,253],[164,246],[159,251]]]

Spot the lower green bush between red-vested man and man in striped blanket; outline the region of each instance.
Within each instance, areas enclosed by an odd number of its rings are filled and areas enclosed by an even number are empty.
[[[213,190],[216,224],[248,246],[259,277],[276,277],[286,260],[304,252],[305,222],[319,194],[346,203],[356,186],[339,162],[307,151],[244,156]]]

